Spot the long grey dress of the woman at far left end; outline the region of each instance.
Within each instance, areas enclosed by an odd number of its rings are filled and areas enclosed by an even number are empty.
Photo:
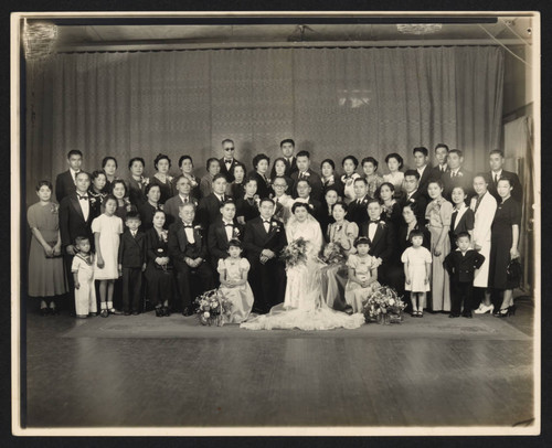
[[[57,243],[60,206],[53,202],[45,205],[38,202],[29,207],[26,221],[31,228],[38,228],[52,247]],[[63,270],[63,257],[46,258],[42,244],[31,237],[29,253],[29,296],[54,297],[67,292],[67,279]]]

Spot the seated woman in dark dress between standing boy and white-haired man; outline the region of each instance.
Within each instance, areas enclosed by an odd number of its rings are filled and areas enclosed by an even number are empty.
[[[163,228],[166,215],[162,210],[153,214],[153,226],[146,232],[146,255],[148,265],[145,276],[147,297],[156,308],[156,316],[170,316],[169,301],[172,300],[172,264],[168,252],[168,232]]]

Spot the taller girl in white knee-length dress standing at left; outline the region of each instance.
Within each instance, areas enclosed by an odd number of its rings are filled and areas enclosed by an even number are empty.
[[[99,300],[102,310],[115,313],[113,307],[113,289],[119,277],[117,256],[119,252],[123,220],[115,215],[118,202],[115,196],[107,196],[104,202],[105,212],[92,222],[92,232],[96,243],[96,266],[94,277],[99,280]]]

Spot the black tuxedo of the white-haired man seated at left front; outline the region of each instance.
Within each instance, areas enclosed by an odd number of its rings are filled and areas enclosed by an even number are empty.
[[[208,249],[206,243],[198,228],[193,228],[194,243],[190,243],[185,235],[184,224],[178,221],[169,227],[169,256],[174,264],[174,274],[177,278],[178,292],[182,300],[182,307],[191,307],[192,295],[192,275],[199,277],[200,288],[197,292],[203,292],[214,288],[213,271],[206,263]],[[190,267],[185,258],[202,258],[203,262],[198,267]],[[197,280],[193,282],[197,286]]]

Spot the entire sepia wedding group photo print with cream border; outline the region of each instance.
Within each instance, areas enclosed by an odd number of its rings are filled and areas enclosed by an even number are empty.
[[[353,15],[12,15],[14,434],[539,434],[540,18]]]

